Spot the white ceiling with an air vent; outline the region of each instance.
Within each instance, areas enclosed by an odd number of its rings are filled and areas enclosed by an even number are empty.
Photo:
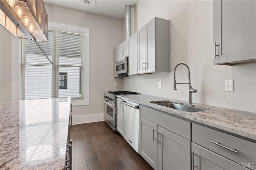
[[[95,6],[78,3],[78,0],[44,0],[45,4],[68,8],[90,14],[123,20],[125,17],[124,6],[132,7],[138,0],[95,0]]]

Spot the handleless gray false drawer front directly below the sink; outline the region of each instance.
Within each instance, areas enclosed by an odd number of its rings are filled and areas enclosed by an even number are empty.
[[[191,141],[191,123],[167,113],[162,113],[159,111],[155,111],[153,109],[149,109],[147,107],[140,106],[140,117],[152,121],[153,123],[164,127],[165,129],[184,137]]]

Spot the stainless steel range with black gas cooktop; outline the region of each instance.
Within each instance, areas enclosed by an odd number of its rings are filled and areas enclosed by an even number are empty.
[[[116,131],[116,95],[119,94],[139,93],[128,91],[104,92],[104,116],[113,131]]]

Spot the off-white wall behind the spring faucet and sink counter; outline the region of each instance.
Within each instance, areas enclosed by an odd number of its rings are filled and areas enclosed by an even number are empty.
[[[135,31],[154,17],[171,21],[171,70],[179,62],[190,66],[191,83],[198,90],[194,103],[256,112],[256,64],[212,64],[212,1],[139,1],[134,8]],[[187,76],[186,67],[178,66],[177,82],[187,82]],[[224,80],[234,80],[234,92],[224,91]],[[173,71],[129,76],[123,90],[188,101],[187,85],[178,84],[174,91],[172,83]]]

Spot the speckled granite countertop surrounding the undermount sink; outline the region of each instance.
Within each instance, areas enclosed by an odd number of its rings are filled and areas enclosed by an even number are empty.
[[[253,139],[254,142],[256,142],[256,113],[204,104],[192,104],[192,107],[205,109],[204,111],[186,112],[150,103],[151,101],[171,101],[172,103],[191,106],[188,102],[184,101],[148,96],[144,94],[116,95],[116,97],[202,123],[210,127],[221,129],[242,137]]]

